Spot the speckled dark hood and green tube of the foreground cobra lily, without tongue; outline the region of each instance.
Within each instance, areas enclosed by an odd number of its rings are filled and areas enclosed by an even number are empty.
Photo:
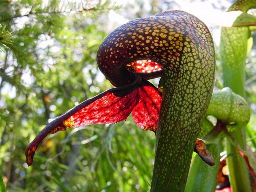
[[[97,53],[102,73],[115,86],[133,81],[125,66],[136,60],[153,60],[164,68],[151,192],[181,192],[213,89],[211,34],[195,16],[167,11],[118,27]]]

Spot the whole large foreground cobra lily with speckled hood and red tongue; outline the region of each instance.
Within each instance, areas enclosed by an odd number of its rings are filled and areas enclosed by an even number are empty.
[[[196,140],[213,90],[214,53],[207,26],[183,11],[166,11],[118,27],[97,53],[101,72],[116,88],[82,102],[47,125],[27,147],[28,166],[47,134],[116,123],[132,113],[139,127],[157,130],[151,191],[182,191],[193,148],[214,165],[203,141]],[[148,82],[156,77],[161,77],[159,89]]]

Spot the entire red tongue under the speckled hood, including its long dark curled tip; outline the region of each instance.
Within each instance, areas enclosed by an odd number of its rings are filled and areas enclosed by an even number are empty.
[[[49,133],[64,131],[66,128],[117,123],[127,119],[132,112],[139,127],[155,132],[161,100],[161,93],[154,85],[135,75],[132,84],[110,89],[88,99],[49,123],[27,147],[27,165],[32,165],[34,152]]]

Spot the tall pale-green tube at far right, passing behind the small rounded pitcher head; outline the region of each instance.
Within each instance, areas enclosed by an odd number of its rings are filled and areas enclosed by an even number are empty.
[[[230,87],[236,94],[244,97],[245,59],[247,53],[247,40],[249,28],[222,28],[221,56],[223,68],[223,86]],[[236,43],[235,43],[236,42]],[[225,47],[229,47],[226,49]],[[238,50],[237,50],[238,49]],[[239,53],[240,52],[240,53]],[[232,136],[237,143],[246,149],[245,127],[236,129]],[[228,152],[227,164],[229,167],[229,180],[233,192],[251,192],[249,171],[242,156],[236,148],[226,139],[225,147]]]

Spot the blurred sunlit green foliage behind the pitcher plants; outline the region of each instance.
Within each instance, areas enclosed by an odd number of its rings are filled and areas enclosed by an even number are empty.
[[[232,1],[208,3],[224,10]],[[111,87],[95,59],[101,41],[119,24],[113,18],[126,22],[177,8],[171,0],[134,0],[124,6],[109,0],[0,0],[0,186],[4,183],[9,192],[150,188],[155,135],[137,128],[130,117],[50,135],[29,168],[24,152],[51,119]],[[218,26],[210,29],[214,37],[220,35]],[[216,42],[216,89],[222,86],[219,49]],[[254,46],[245,82],[252,111],[246,141],[254,153],[255,55]]]

